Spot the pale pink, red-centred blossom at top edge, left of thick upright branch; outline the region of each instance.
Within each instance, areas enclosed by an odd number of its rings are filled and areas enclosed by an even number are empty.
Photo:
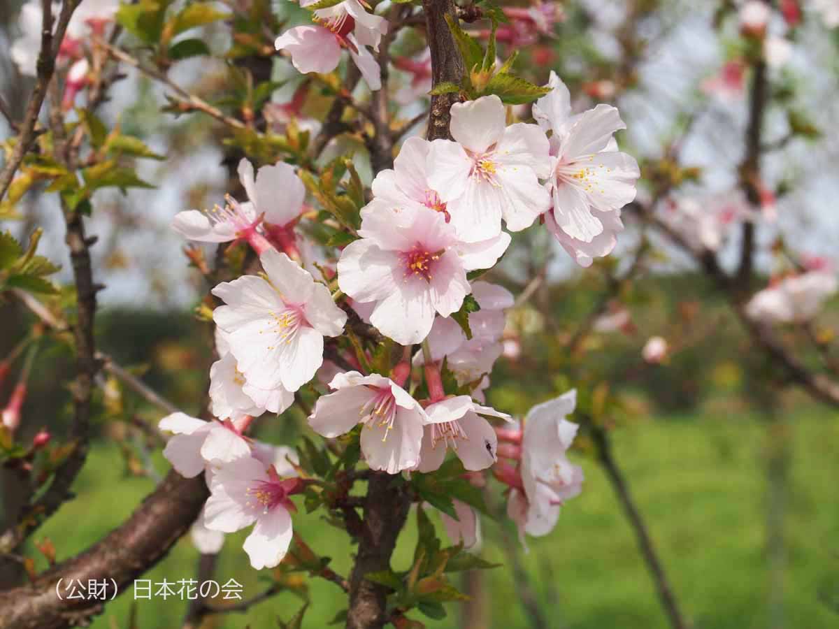
[[[306,7],[317,0],[302,0]],[[381,69],[367,46],[378,52],[382,35],[388,32],[388,20],[367,13],[358,0],[344,0],[334,6],[316,9],[312,26],[297,26],[274,41],[274,48],[287,50],[291,63],[303,74],[335,70],[346,48],[361,70],[371,90],[382,88]]]

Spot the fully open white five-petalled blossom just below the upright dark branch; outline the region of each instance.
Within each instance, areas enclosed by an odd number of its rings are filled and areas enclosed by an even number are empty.
[[[506,125],[498,96],[451,106],[451,140],[435,140],[428,182],[446,203],[451,223],[469,242],[497,237],[501,220],[522,231],[550,206],[539,184],[550,174],[548,138],[539,127]]]

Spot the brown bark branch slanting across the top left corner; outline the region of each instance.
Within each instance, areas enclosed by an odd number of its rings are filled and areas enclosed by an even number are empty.
[[[47,95],[50,81],[52,81],[53,74],[55,74],[55,59],[58,57],[61,41],[64,39],[64,34],[67,30],[67,24],[70,23],[70,18],[73,16],[73,12],[79,6],[80,2],[81,0],[68,0],[68,2],[62,3],[61,13],[59,13],[58,24],[55,27],[54,34],[52,30],[52,2],[51,0],[41,1],[44,19],[41,26],[41,48],[38,54],[38,65],[36,66],[37,76],[35,88],[29,99],[29,105],[26,107],[23,124],[18,133],[12,155],[3,167],[3,171],[0,172],[0,200],[3,200],[3,197],[6,196],[8,187],[12,184],[14,174],[18,172],[23,158],[29,152],[29,148],[32,146],[37,135],[35,133],[35,123],[38,122],[38,115],[41,111],[41,106],[44,104],[44,97]]]

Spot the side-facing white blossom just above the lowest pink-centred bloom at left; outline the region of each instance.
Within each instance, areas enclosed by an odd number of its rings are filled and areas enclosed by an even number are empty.
[[[251,455],[251,444],[242,435],[242,424],[207,422],[186,413],[171,413],[160,420],[159,429],[174,433],[163,455],[180,476],[192,478],[207,465],[217,466]]]

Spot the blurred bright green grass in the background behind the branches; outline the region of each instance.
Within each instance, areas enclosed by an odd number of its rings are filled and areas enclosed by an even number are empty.
[[[687,421],[685,421],[687,420]],[[777,431],[776,431],[777,433]],[[835,415],[805,411],[789,418],[780,432],[789,439],[789,476],[784,490],[785,562],[781,602],[785,625],[807,629],[839,626],[839,424]],[[702,629],[781,626],[770,619],[772,576],[766,549],[770,489],[768,424],[757,417],[681,416],[633,424],[613,433],[618,460],[638,507],[670,574],[685,615]],[[592,459],[577,456],[586,472],[583,494],[569,502],[559,525],[546,538],[529,539],[522,560],[551,627],[579,629],[656,629],[667,623],[654,585],[638,554],[633,531],[619,511],[607,479]],[[155,460],[158,470],[165,462]],[[50,538],[64,559],[101,538],[128,516],[153,487],[153,481],[119,478],[124,468],[117,448],[98,444],[76,483],[79,497],[42,528],[36,540]],[[111,479],[118,478],[118,481]],[[348,574],[352,546],[344,533],[316,514],[294,517],[294,528],[315,551],[330,556]],[[505,562],[498,524],[484,521],[483,556]],[[216,572],[220,583],[234,578],[244,596],[265,585],[249,568],[241,550],[246,533],[229,536]],[[442,529],[440,528],[440,534]],[[407,567],[415,542],[413,519],[400,538],[393,565]],[[31,549],[33,555],[37,551]],[[198,554],[187,537],[145,578],[153,581],[195,577]],[[44,567],[39,559],[39,567]],[[268,574],[268,573],[266,573]],[[504,567],[484,573],[488,627],[528,627],[513,580]],[[264,575],[263,575],[264,578]],[[324,627],[346,606],[336,587],[310,581],[314,601],[305,627]],[[133,593],[108,605],[95,629],[129,626]],[[218,629],[276,627],[289,619],[301,600],[284,592],[247,614],[214,616]],[[185,603],[138,600],[138,627],[180,626]],[[446,620],[420,615],[428,627],[460,626],[456,604]],[[772,612],[777,613],[777,612]]]

